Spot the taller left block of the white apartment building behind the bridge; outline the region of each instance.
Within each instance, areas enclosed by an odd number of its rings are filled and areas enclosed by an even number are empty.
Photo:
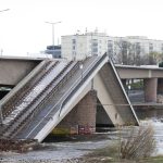
[[[102,55],[108,51],[108,36],[103,33],[62,36],[62,58],[83,60],[90,55]]]

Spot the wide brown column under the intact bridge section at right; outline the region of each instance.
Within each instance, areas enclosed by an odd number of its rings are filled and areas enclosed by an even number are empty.
[[[147,78],[143,80],[145,101],[156,102],[158,78]]]

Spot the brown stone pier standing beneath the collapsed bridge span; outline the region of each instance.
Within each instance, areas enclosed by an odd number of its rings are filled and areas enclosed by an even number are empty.
[[[53,129],[52,134],[92,134],[96,131],[97,91],[90,90]],[[58,133],[59,131],[59,133]]]

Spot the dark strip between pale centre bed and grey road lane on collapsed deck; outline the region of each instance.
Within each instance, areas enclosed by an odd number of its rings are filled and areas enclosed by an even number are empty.
[[[51,91],[50,91],[50,93],[52,92],[53,93],[53,91],[55,90],[58,90],[59,88],[58,87],[61,87],[61,85],[63,85],[63,83],[65,83],[71,76],[72,76],[72,74],[74,74],[74,71],[77,68],[77,65],[78,65],[78,62],[76,62],[75,64],[73,63],[73,62],[70,62],[63,70],[62,70],[62,72],[51,82],[51,84],[50,85],[48,85],[47,87],[46,87],[46,89],[43,90],[43,92],[42,93],[45,93],[46,92],[46,90],[48,90],[49,88],[51,89]],[[71,67],[70,67],[71,66]],[[72,70],[70,70],[70,68],[72,68]],[[70,71],[70,72],[68,72]],[[67,73],[68,72],[68,73]],[[71,74],[71,76],[70,76],[70,74]],[[60,76],[61,76],[61,78],[60,78]],[[67,77],[68,76],[68,77]],[[55,87],[54,88],[51,88],[51,85],[53,84],[53,83],[55,83],[55,82],[58,82],[58,79],[60,78],[60,82],[58,83],[58,84],[55,84]],[[52,91],[53,90],[53,91]],[[41,93],[41,95],[42,95]],[[5,131],[4,131],[4,134],[3,134],[3,136],[8,136],[8,137],[14,137],[15,135],[16,135],[16,133],[18,131],[18,130],[21,130],[21,128],[23,128],[25,125],[26,125],[26,123],[28,122],[28,121],[30,121],[30,117],[33,117],[34,116],[34,114],[36,113],[36,112],[38,112],[40,109],[41,109],[41,106],[46,103],[46,102],[48,102],[48,100],[49,100],[49,97],[50,95],[47,95],[46,96],[46,98],[45,99],[42,99],[41,101],[40,101],[40,103],[36,106],[36,108],[34,108],[33,106],[33,104],[36,102],[36,100],[34,100],[30,104],[29,104],[29,106],[28,106],[28,109],[26,109],[25,111],[23,111],[17,117],[16,117],[16,120],[13,120],[13,123],[11,123],[7,128],[5,128]],[[37,100],[39,100],[39,97],[37,98]]]

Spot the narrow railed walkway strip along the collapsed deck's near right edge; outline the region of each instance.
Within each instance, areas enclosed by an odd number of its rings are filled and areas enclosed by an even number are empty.
[[[47,114],[43,115],[43,117],[37,122],[37,125],[26,135],[26,138],[35,138],[37,135],[36,130],[42,129],[45,126],[43,122],[47,122],[47,120],[51,120],[51,116],[55,115],[55,113],[59,112],[59,114],[62,111],[62,108],[66,104],[66,102],[73,97],[73,95],[78,90],[78,88],[85,83],[87,78],[89,78],[89,75],[98,67],[98,65],[101,63],[101,61],[104,61],[106,59],[106,54],[103,57],[98,57],[92,62],[88,63],[88,67],[83,72],[83,78],[77,78],[71,87],[68,87],[63,93],[63,96],[57,101],[57,103],[47,112]],[[88,60],[86,60],[87,62]],[[73,74],[74,75],[74,74]],[[60,110],[61,109],[61,110]],[[60,116],[59,116],[60,120]],[[57,120],[58,121],[58,120]]]

